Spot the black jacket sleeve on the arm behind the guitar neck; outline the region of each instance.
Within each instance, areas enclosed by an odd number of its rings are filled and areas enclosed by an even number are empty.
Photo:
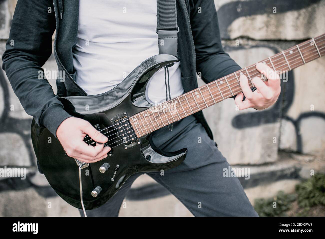
[[[191,2],[191,27],[196,51],[197,72],[210,83],[240,70],[221,45],[217,12],[213,0]],[[201,13],[200,13],[201,11]]]

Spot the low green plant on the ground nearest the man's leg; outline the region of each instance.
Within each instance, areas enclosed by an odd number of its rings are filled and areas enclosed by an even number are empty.
[[[290,209],[291,203],[295,200],[295,194],[285,194],[279,191],[274,198],[256,199],[254,208],[260,217],[284,217],[285,211]]]

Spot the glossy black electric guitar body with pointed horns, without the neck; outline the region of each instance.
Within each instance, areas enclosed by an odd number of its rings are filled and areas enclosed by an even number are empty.
[[[51,187],[66,202],[82,209],[79,167],[83,204],[85,209],[93,209],[106,203],[132,174],[167,170],[184,161],[187,149],[161,152],[151,144],[150,133],[137,137],[130,123],[131,116],[152,106],[145,97],[150,77],[162,67],[177,61],[171,55],[156,55],[141,63],[106,93],[59,98],[65,111],[89,121],[108,136],[105,146],[109,145],[111,151],[99,162],[82,165],[83,162],[66,155],[59,140],[46,128],[32,122],[32,143],[37,160]],[[89,137],[85,138],[85,142],[96,143]]]

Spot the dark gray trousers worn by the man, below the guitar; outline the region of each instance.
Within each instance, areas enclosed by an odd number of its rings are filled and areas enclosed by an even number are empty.
[[[152,140],[167,152],[187,148],[185,161],[169,170],[147,174],[181,201],[194,216],[258,216],[238,178],[224,177],[229,164],[209,138],[203,126],[190,115],[153,132]],[[144,173],[129,177],[121,189],[103,206],[87,210],[87,216],[118,216],[125,195],[134,180]],[[83,216],[83,211],[80,210]]]

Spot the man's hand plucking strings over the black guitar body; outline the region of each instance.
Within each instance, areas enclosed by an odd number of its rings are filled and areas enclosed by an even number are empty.
[[[88,134],[98,142],[95,147],[85,143]],[[107,157],[110,147],[104,147],[107,137],[96,130],[88,121],[70,117],[65,119],[57,129],[57,137],[69,157],[85,163],[95,163]]]

